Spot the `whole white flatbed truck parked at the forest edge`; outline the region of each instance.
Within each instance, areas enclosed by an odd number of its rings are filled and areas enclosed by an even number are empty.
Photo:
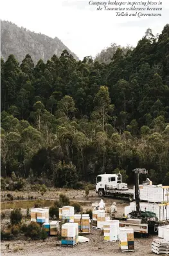
[[[96,177],[96,193],[100,197],[127,197],[134,199],[134,190],[130,190],[126,183],[121,182],[121,174],[100,174]]]

